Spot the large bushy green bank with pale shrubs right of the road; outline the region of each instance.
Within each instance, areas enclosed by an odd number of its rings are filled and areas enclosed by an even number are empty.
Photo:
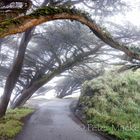
[[[140,140],[140,72],[86,81],[78,108],[90,126],[121,140]]]

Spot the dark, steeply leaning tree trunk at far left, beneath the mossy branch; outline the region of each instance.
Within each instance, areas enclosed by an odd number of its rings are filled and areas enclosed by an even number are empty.
[[[18,55],[17,58],[13,64],[13,67],[7,77],[5,88],[4,88],[4,93],[1,98],[0,102],[0,117],[5,115],[5,112],[8,107],[8,103],[10,101],[10,97],[12,94],[12,91],[15,87],[15,84],[18,80],[18,77],[20,75],[22,65],[23,65],[23,60],[26,52],[27,45],[29,43],[29,40],[31,38],[31,31],[32,28],[26,31],[22,37],[19,49],[18,49]]]

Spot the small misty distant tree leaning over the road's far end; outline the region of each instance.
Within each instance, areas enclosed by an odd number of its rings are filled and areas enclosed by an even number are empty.
[[[71,95],[74,91],[81,88],[81,85],[86,80],[91,80],[96,78],[104,73],[104,67],[102,63],[100,66],[95,66],[95,59],[92,59],[93,63],[91,66],[87,63],[82,62],[81,65],[78,65],[68,71],[65,75],[62,75],[63,78],[59,80],[59,83],[55,86],[57,97],[63,98],[67,95]],[[100,60],[99,60],[100,61]]]

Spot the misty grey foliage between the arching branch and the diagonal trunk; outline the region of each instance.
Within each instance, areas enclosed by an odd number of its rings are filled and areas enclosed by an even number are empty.
[[[56,27],[54,25],[52,27],[45,27],[47,32],[44,32],[43,35],[41,34],[40,36],[33,37],[33,41],[37,42],[37,45],[34,49],[30,48],[30,53],[25,57],[23,73],[21,73],[20,76],[20,79],[23,79],[25,86],[19,94],[19,97],[20,95],[22,96],[23,92],[32,86],[38,79],[47,77],[51,73],[55,74],[56,70],[59,70],[62,65],[66,65],[71,59],[79,59],[77,56],[80,54],[86,55],[87,50],[91,51],[89,54],[95,55],[94,53],[100,49],[100,47],[98,47],[96,51],[93,51],[98,40],[94,40],[92,33],[90,33],[89,30],[86,32],[86,28],[81,28],[78,23],[57,23]],[[38,46],[40,46],[40,48],[38,48]],[[88,55],[86,55],[85,58],[87,59]],[[79,60],[80,63],[83,62],[83,60],[84,58]],[[75,62],[75,65],[76,64],[77,62]],[[71,68],[73,66],[74,65],[70,65],[67,67]],[[62,71],[65,71],[65,69],[62,69]],[[28,82],[25,83],[25,81]],[[46,82],[48,81],[46,80]],[[32,94],[33,93],[30,93],[30,96]]]

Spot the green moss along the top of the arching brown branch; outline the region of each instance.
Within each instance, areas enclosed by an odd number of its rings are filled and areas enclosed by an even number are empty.
[[[88,13],[83,12],[81,10],[77,10],[74,7],[64,7],[64,6],[57,6],[57,7],[52,7],[52,6],[45,6],[42,8],[37,9],[36,11],[32,12],[29,15],[22,16],[19,18],[11,18],[11,19],[5,19],[3,22],[0,23],[0,32],[8,32],[9,27],[10,28],[17,28],[18,26],[22,26],[24,19],[34,19],[34,18],[40,18],[41,16],[46,17],[46,16],[52,16],[56,14],[61,14],[61,13],[67,13],[71,15],[81,15],[88,20],[91,20],[90,16]]]

